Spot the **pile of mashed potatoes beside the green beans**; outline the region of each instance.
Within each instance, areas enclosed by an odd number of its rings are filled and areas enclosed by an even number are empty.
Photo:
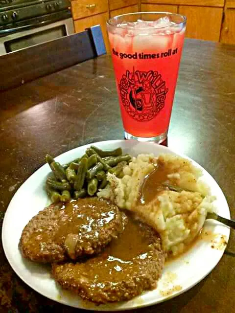
[[[143,179],[157,165],[165,166],[167,182],[190,191],[175,192],[168,188],[156,191],[147,204],[139,200]],[[168,255],[183,252],[202,228],[208,212],[213,212],[209,187],[200,179],[202,172],[190,161],[179,156],[161,154],[133,157],[123,169],[124,177],[118,179],[108,174],[108,186],[100,190],[99,197],[110,199],[120,208],[137,213],[141,220],[154,227],[161,235],[163,248]]]

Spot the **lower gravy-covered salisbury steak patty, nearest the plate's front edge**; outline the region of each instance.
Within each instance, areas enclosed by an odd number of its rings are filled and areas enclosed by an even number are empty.
[[[77,263],[53,264],[52,275],[62,288],[101,304],[154,289],[163,267],[158,233],[129,218],[123,233],[100,255]]]

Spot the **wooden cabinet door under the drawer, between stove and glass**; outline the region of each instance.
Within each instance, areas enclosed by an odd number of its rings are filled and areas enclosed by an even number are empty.
[[[108,34],[106,30],[106,21],[109,19],[109,14],[107,13],[102,13],[94,16],[90,16],[85,19],[80,19],[77,21],[74,21],[74,27],[75,27],[75,32],[79,33],[80,31],[84,31],[85,28],[91,27],[97,24],[100,24],[100,27],[102,29],[102,34],[104,38],[104,43],[106,46],[106,50],[109,51],[109,39],[108,39]]]

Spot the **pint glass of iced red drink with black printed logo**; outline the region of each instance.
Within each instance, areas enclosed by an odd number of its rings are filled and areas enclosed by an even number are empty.
[[[107,23],[127,139],[162,142],[169,127],[186,18],[125,14]]]

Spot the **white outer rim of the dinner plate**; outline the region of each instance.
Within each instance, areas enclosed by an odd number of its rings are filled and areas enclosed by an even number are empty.
[[[55,159],[56,160],[60,160],[60,158],[63,158],[63,156],[65,155],[69,155],[69,154],[73,154],[74,152],[76,152],[77,150],[81,150],[83,149],[84,152],[86,150],[87,147],[90,147],[91,145],[97,145],[97,146],[102,146],[102,145],[116,145],[117,147],[124,144],[125,145],[132,145],[134,146],[135,144],[141,144],[141,145],[151,145],[151,146],[154,146],[154,147],[161,147],[161,150],[165,150],[165,153],[171,153],[171,154],[176,154],[178,156],[182,156],[182,157],[185,157],[187,158],[188,160],[192,161],[192,163],[197,166],[198,168],[202,169],[204,171],[204,173],[206,173],[208,175],[208,177],[210,177],[214,183],[217,185],[217,187],[220,189],[223,197],[224,197],[224,200],[226,201],[226,198],[223,194],[223,191],[221,190],[221,188],[219,187],[219,185],[217,184],[217,182],[212,178],[212,176],[201,166],[199,165],[197,162],[195,162],[194,160],[192,160],[190,157],[188,156],[185,156],[184,154],[181,154],[179,152],[177,152],[175,149],[170,149],[168,147],[164,147],[163,145],[157,145],[156,143],[150,143],[150,142],[137,142],[135,140],[106,140],[106,141],[99,141],[99,142],[94,142],[94,143],[89,143],[87,145],[84,145],[84,146],[80,146],[80,147],[77,147],[77,148],[74,148],[72,150],[69,150],[63,154],[60,154],[59,156],[56,156]],[[157,149],[157,148],[156,148]],[[154,149],[153,149],[154,150]],[[143,152],[144,153],[144,152]],[[154,153],[154,152],[153,152]],[[79,155],[81,155],[82,153],[80,152]],[[79,156],[77,156],[79,157]],[[37,291],[38,293],[46,296],[47,298],[53,300],[53,301],[56,301],[56,302],[59,302],[59,303],[62,303],[62,304],[65,304],[65,305],[68,305],[68,306],[71,306],[71,307],[76,307],[76,308],[81,308],[81,309],[85,309],[85,310],[94,310],[94,311],[124,311],[124,310],[131,310],[131,309],[138,309],[138,308],[143,308],[143,307],[147,307],[147,306],[151,306],[151,305],[154,305],[154,304],[158,304],[158,303],[161,303],[163,301],[166,301],[166,300],[169,300],[177,295],[180,295],[182,294],[183,292],[186,292],[188,291],[190,288],[192,288],[193,286],[195,286],[197,283],[199,283],[203,278],[205,278],[210,272],[211,270],[217,265],[217,263],[219,262],[219,260],[221,259],[221,257],[223,256],[223,253],[224,253],[224,250],[226,248],[226,246],[224,247],[223,251],[221,251],[221,255],[219,258],[217,258],[217,262],[213,264],[213,267],[211,267],[211,269],[206,272],[203,276],[200,276],[200,279],[198,281],[196,281],[195,283],[191,284],[190,286],[188,286],[187,288],[184,288],[180,291],[176,291],[174,292],[173,294],[169,295],[169,296],[165,296],[163,297],[162,299],[158,300],[158,301],[148,301],[146,303],[134,303],[134,306],[130,306],[130,307],[126,307],[125,304],[128,303],[127,302],[124,302],[124,306],[122,306],[122,304],[120,304],[120,306],[116,306],[114,305],[115,307],[112,309],[112,305],[107,305],[107,306],[96,306],[96,307],[86,307],[86,305],[84,306],[74,306],[74,305],[71,305],[70,303],[68,303],[68,301],[64,301],[64,299],[58,299],[58,298],[54,298],[54,297],[50,297],[48,296],[48,294],[42,290],[39,290],[38,288],[35,288],[35,286],[33,284],[29,284],[27,279],[24,277],[24,275],[22,275],[21,273],[19,273],[18,271],[18,268],[17,266],[15,265],[14,263],[14,259],[12,258],[13,256],[9,254],[9,251],[7,249],[7,221],[8,221],[8,215],[10,214],[10,211],[12,209],[13,204],[14,204],[14,199],[17,197],[17,195],[21,192],[21,190],[24,188],[25,184],[30,180],[32,179],[32,177],[36,176],[37,173],[39,173],[40,171],[42,171],[42,169],[45,169],[45,167],[47,166],[47,164],[44,164],[42,165],[39,169],[37,169],[28,179],[26,179],[24,181],[24,183],[20,186],[20,188],[17,190],[17,192],[15,193],[15,195],[13,196],[12,200],[10,201],[9,205],[8,205],[8,208],[5,212],[5,216],[4,216],[4,219],[3,219],[3,224],[2,224],[2,245],[3,245],[3,250],[5,252],[5,255],[6,255],[6,258],[8,260],[8,262],[10,263],[11,267],[13,268],[13,270],[16,272],[16,274],[29,286],[31,287],[33,290]],[[227,204],[227,201],[226,201],[226,204]],[[227,206],[225,207],[226,208],[226,218],[230,218],[230,211],[229,211],[229,207],[228,207],[228,204]],[[230,229],[227,229],[226,231],[226,235],[227,235],[227,238],[229,239],[229,236],[230,236]],[[147,291],[148,292],[148,291]],[[150,291],[149,291],[150,292]],[[132,301],[132,300],[131,300]]]

